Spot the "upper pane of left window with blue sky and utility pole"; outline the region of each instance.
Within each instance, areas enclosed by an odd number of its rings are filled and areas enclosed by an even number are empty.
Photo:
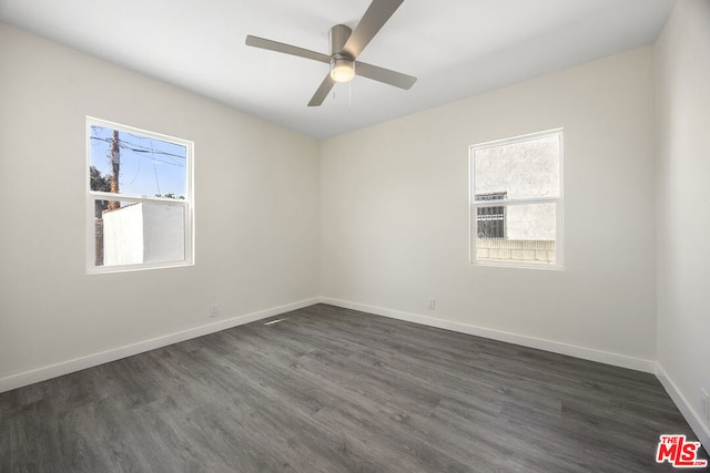
[[[90,188],[135,196],[186,197],[186,148],[91,125]]]

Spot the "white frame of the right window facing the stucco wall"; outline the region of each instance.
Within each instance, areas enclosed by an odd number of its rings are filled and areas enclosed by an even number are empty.
[[[501,200],[480,200],[476,202],[476,179],[475,179],[475,153],[478,150],[485,150],[488,147],[496,147],[501,145],[509,145],[526,141],[532,141],[544,137],[558,136],[559,138],[559,196],[558,197],[534,197],[534,198],[506,198]],[[565,269],[565,225],[564,225],[564,128],[547,130],[544,132],[530,133],[526,135],[514,136],[504,140],[496,140],[486,143],[479,143],[471,145],[468,148],[468,249],[469,249],[469,263],[474,266],[494,266],[494,267],[510,267],[510,268],[529,268],[529,269]],[[490,207],[495,203],[495,206],[516,206],[516,205],[529,205],[529,204],[555,204],[555,264],[545,263],[525,263],[525,261],[498,261],[498,260],[479,260],[476,256],[476,239],[477,234],[477,210],[479,207]]]

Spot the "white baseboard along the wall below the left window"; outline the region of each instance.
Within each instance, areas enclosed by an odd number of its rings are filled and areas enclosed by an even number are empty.
[[[87,368],[97,367],[99,364],[108,363],[110,361],[120,360],[122,358],[132,357],[133,354],[142,353],[144,351],[154,350],[156,348],[165,347],[180,341],[190,340],[192,338],[202,337],[205,335],[214,333],[220,330],[225,330],[232,327],[242,326],[256,320],[262,320],[268,317],[278,316],[291,310],[301,309],[303,307],[312,306],[320,301],[318,298],[301,300],[298,302],[287,304],[285,306],[274,307],[271,309],[260,310],[257,312],[247,313],[244,316],[233,317],[230,319],[220,320],[213,323],[195,327],[187,330],[182,330],[165,336],[152,338],[149,340],[139,341],[136,343],[126,345],[111,350],[101,351],[98,353],[89,354],[87,357],[74,358],[72,360],[61,361],[59,363],[49,364],[47,367],[37,368],[30,371],[26,371],[18,374],[11,374],[4,378],[0,378],[0,392],[10,391],[12,389],[22,388],[36,382],[45,381],[51,378],[57,378],[63,374],[69,374],[74,371],[80,371]]]

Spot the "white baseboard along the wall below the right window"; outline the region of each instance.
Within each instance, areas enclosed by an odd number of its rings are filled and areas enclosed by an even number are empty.
[[[612,364],[621,368],[629,368],[647,373],[656,373],[656,361],[645,360],[641,358],[629,357],[626,354],[612,353],[608,351],[596,350],[594,348],[577,347],[574,345],[562,343],[559,341],[545,340],[534,337],[527,337],[517,333],[509,333],[500,330],[491,330],[483,327],[476,327],[468,323],[454,322],[450,320],[437,319],[416,313],[403,312],[399,310],[385,309],[382,307],[367,306],[364,304],[351,302],[329,297],[321,297],[321,302],[332,306],[343,307],[345,309],[361,310],[363,312],[375,313],[377,316],[390,317],[393,319],[405,320],[408,322],[420,323],[424,326],[436,327],[440,329],[457,331],[462,333],[474,335],[477,337],[489,338],[493,340],[505,341],[508,343],[520,345],[523,347],[536,348],[538,350],[551,351],[554,353],[567,354],[584,360],[598,361],[600,363]]]

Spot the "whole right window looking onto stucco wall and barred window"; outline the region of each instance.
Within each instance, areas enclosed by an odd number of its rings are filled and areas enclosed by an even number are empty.
[[[562,267],[562,131],[469,150],[470,261]]]

